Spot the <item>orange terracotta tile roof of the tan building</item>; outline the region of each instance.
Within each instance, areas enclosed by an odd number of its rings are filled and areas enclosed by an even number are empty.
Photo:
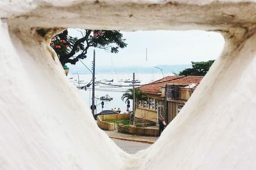
[[[189,85],[191,83],[198,85],[202,78],[204,78],[204,76],[166,76],[165,78],[153,81],[152,83],[148,83],[147,85],[138,88],[142,92],[158,94],[165,83],[168,85]]]

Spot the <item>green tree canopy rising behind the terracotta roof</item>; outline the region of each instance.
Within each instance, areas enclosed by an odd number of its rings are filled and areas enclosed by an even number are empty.
[[[205,76],[212,66],[214,60],[191,62],[192,68],[184,69],[180,71],[179,76]]]

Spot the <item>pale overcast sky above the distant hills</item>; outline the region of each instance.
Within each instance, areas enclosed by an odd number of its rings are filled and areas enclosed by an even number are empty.
[[[76,29],[68,29],[68,34],[81,37]],[[225,43],[220,33],[207,31],[134,31],[122,34],[128,44],[126,48],[119,48],[118,53],[89,48],[87,58],[83,60],[86,66],[92,66],[94,49],[96,66],[150,67],[213,60],[219,57]],[[80,62],[77,64],[81,65]]]

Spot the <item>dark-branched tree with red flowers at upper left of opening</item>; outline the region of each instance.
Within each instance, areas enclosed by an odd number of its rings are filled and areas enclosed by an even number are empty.
[[[57,53],[62,65],[66,63],[76,64],[79,59],[86,58],[88,48],[102,48],[111,53],[118,53],[118,48],[125,48],[127,43],[124,41],[120,31],[90,30],[79,31],[82,38],[72,37],[65,30],[52,37],[51,46]]]

